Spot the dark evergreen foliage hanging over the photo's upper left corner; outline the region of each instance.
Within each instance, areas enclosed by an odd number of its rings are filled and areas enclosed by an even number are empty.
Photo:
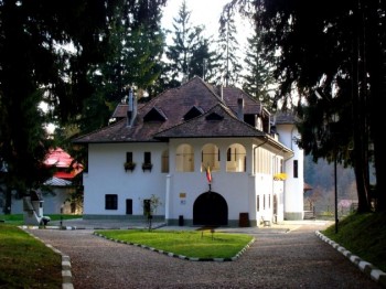
[[[149,26],[153,29],[157,21],[152,15],[159,15],[164,3],[165,0],[0,2],[0,158],[8,168],[7,210],[11,190],[23,195],[46,175],[42,161],[52,142],[43,129],[47,115],[42,114],[39,104],[46,101],[49,116],[62,126],[78,119],[84,105],[90,108],[94,104],[87,100],[96,92],[94,85],[105,84],[95,76],[116,53],[111,45],[115,29],[127,24],[138,31],[136,28],[146,21],[152,21]],[[104,100],[98,94],[98,105]]]

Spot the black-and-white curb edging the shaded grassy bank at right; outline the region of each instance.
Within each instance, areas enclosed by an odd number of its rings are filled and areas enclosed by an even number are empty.
[[[322,240],[324,240],[325,243],[330,244],[333,248],[335,248],[337,251],[343,254],[343,256],[349,258],[355,266],[357,266],[360,268],[361,271],[366,274],[372,280],[376,281],[382,287],[386,288],[386,272],[379,270],[373,264],[361,259],[358,256],[352,254],[350,250],[347,250],[344,247],[340,246],[337,243],[331,240],[330,238],[324,236],[319,231],[317,231],[315,234]]]

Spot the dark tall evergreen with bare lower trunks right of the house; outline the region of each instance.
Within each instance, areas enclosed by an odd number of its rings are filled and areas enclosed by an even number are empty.
[[[369,211],[374,196],[376,208],[386,211],[386,152],[380,137],[386,120],[379,117],[386,92],[386,3],[233,0],[229,7],[250,12],[267,31],[264,51],[278,52],[274,75],[285,107],[298,98],[300,146],[305,153],[352,165],[358,212]],[[376,195],[369,186],[373,163]]]

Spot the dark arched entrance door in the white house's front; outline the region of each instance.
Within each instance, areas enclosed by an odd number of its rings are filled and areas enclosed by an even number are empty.
[[[228,224],[228,205],[215,192],[201,194],[193,204],[193,225],[224,226]]]

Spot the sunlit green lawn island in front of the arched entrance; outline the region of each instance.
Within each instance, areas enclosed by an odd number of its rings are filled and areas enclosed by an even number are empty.
[[[235,257],[253,237],[246,234],[211,233],[205,231],[96,231],[108,238],[141,244],[190,258]]]

